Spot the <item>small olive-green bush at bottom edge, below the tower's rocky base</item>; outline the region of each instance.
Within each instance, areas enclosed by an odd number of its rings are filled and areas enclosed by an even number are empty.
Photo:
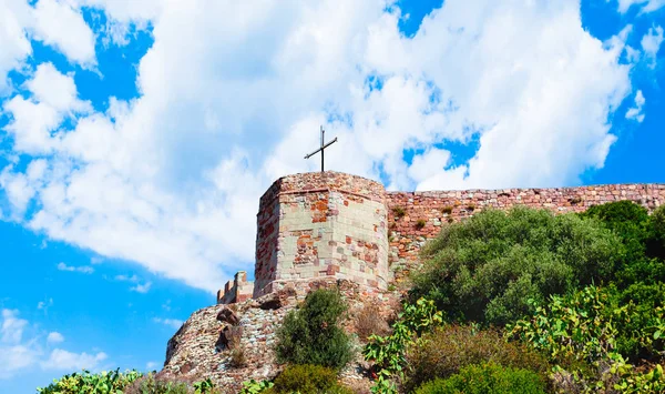
[[[275,378],[274,393],[346,394],[348,388],[337,383],[335,370],[319,365],[289,365]]]

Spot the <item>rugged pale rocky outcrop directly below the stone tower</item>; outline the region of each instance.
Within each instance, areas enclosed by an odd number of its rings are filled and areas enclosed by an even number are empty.
[[[399,309],[400,295],[396,292],[368,292],[365,286],[345,280],[296,281],[257,300],[219,304],[194,312],[168,341],[163,373],[186,380],[211,377],[228,393],[237,393],[244,381],[275,377],[282,371],[273,351],[275,332],[288,311],[296,307],[309,291],[318,287],[339,289],[349,304],[344,326],[351,334],[355,333],[355,316],[368,302],[374,300],[380,305],[377,319],[388,319]],[[235,317],[228,319],[229,311]],[[236,317],[237,322],[234,321]],[[231,345],[225,344],[229,333],[232,341],[237,341]],[[359,350],[357,339],[355,342]],[[244,363],[236,365],[241,352]],[[348,385],[365,391],[369,380],[365,377],[361,364],[358,352],[357,360],[342,371],[341,376]]]

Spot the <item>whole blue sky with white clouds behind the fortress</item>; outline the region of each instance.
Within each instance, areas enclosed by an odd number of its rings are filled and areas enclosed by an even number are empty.
[[[258,198],[665,182],[663,0],[0,0],[0,392],[158,368]]]

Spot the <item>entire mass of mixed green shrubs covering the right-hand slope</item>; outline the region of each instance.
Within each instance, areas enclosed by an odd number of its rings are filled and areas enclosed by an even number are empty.
[[[533,384],[514,392],[663,393],[664,251],[665,208],[632,202],[452,224],[412,275],[405,307],[422,317],[402,314],[365,348],[372,391],[510,393],[521,371]]]

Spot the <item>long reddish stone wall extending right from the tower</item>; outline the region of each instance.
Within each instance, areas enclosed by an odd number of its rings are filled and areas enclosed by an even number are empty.
[[[556,189],[503,189],[433,192],[389,192],[389,261],[402,276],[417,264],[420,247],[441,226],[459,222],[484,209],[514,205],[548,209],[555,213],[582,212],[612,201],[634,201],[649,211],[665,203],[665,184],[611,184]]]

